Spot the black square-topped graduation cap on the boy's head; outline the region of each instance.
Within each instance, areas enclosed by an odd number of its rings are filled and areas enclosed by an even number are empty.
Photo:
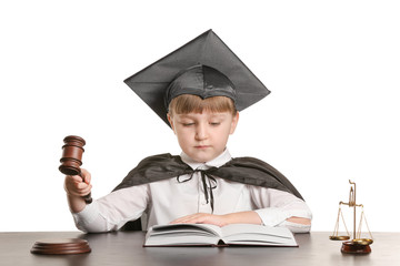
[[[270,91],[212,31],[124,80],[168,125],[168,105],[180,94],[229,96],[242,111]]]

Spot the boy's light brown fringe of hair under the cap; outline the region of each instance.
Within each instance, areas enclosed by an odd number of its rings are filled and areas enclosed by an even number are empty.
[[[231,112],[237,114],[237,109],[232,99],[227,96],[212,96],[201,99],[198,95],[182,94],[172,99],[168,109],[169,115],[201,113],[203,110],[210,112]]]

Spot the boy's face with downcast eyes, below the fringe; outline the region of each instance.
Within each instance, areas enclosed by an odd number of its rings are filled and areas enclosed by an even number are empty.
[[[204,163],[220,155],[226,149],[229,135],[234,132],[239,113],[231,112],[173,114],[168,115],[182,151],[192,160]]]

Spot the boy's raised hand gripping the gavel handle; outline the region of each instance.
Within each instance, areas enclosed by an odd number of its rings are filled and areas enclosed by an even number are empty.
[[[66,176],[64,190],[68,195],[82,197],[90,193],[92,188],[90,184],[91,175],[84,168],[81,170],[81,175],[83,178],[79,175]]]

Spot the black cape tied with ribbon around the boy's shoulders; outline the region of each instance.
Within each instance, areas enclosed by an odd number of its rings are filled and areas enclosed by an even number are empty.
[[[179,177],[186,174],[189,174],[191,178],[191,175],[196,172],[201,173],[207,201],[209,198],[208,191],[210,192],[212,208],[212,190],[217,186],[217,181],[214,177],[220,177],[227,181],[238,182],[247,185],[257,185],[267,188],[284,191],[303,200],[301,194],[296,190],[290,181],[284,177],[284,175],[261,160],[254,157],[236,157],[220,167],[192,170],[181,160],[180,156],[171,155],[169,153],[153,155],[142,160],[138,166],[128,173],[127,177],[124,177],[123,181],[113,191],[173,177],[177,177],[179,181]],[[208,178],[206,178],[206,176]],[[212,180],[214,182],[214,186],[212,186],[210,182],[207,184],[206,180]],[[126,226],[122,227],[122,229],[141,229],[140,221],[136,221],[134,224],[129,222]]]

